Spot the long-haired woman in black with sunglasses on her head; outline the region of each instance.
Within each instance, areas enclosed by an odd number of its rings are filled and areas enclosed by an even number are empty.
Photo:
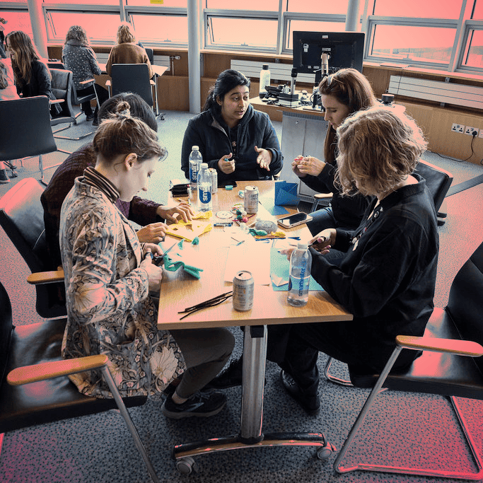
[[[357,193],[342,196],[334,185],[337,170],[337,127],[344,119],[358,110],[377,104],[371,84],[356,69],[340,69],[320,81],[319,92],[325,108],[325,120],[329,122],[325,136],[325,161],[308,156],[299,156],[292,162],[292,170],[308,187],[320,193],[331,193],[332,201],[327,208],[310,214],[312,221],[307,227],[312,235],[325,228],[355,229],[361,222],[370,199]],[[332,255],[331,255],[332,256]]]

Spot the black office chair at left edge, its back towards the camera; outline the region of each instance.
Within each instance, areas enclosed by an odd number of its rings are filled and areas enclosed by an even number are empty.
[[[41,181],[45,184],[42,154],[55,151],[46,95],[0,101],[0,161],[38,156]],[[45,169],[50,168],[54,166]]]

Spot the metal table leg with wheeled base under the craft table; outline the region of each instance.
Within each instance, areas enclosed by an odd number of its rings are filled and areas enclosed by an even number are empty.
[[[267,326],[247,326],[244,333],[240,433],[176,445],[171,455],[182,473],[192,472],[192,456],[218,451],[261,446],[318,446],[318,458],[325,460],[335,450],[322,433],[262,433]]]

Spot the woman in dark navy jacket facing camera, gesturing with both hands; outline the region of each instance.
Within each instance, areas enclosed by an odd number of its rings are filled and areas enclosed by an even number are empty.
[[[203,112],[185,131],[181,169],[187,178],[192,146],[199,146],[204,163],[216,168],[221,183],[269,180],[281,171],[283,157],[272,122],[253,109],[249,98],[250,80],[244,74],[228,69],[218,76]]]

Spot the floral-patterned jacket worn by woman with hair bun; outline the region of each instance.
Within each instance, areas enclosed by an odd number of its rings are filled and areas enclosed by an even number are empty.
[[[62,205],[60,226],[67,305],[62,356],[106,354],[122,397],[162,392],[185,361],[171,334],[157,328],[134,229],[83,178]],[[84,394],[112,397],[100,371],[70,377]]]

